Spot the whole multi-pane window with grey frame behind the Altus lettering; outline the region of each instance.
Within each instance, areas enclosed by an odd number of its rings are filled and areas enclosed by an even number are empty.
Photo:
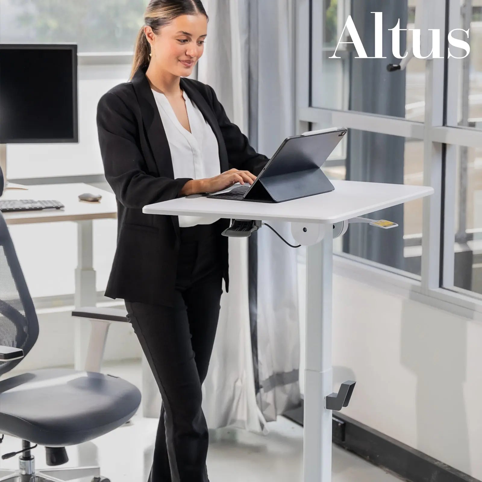
[[[386,63],[392,59],[355,59],[350,44],[340,45],[340,59],[329,58],[348,15],[373,55],[371,12],[383,11],[384,29],[399,18],[401,27],[405,22],[413,28],[415,3],[311,0],[309,7],[298,8],[300,30],[301,22],[311,25],[297,45],[300,58],[311,54],[310,66],[300,62],[297,72],[297,81],[306,82],[309,92],[298,90],[299,128],[348,128],[323,166],[333,179],[425,183],[436,191],[427,204],[417,200],[388,214],[368,215],[391,219],[401,229],[380,233],[353,225],[335,240],[335,252],[418,278],[424,293],[456,298],[455,304],[474,309],[478,305],[466,296],[482,302],[482,0],[446,0],[447,18],[434,20],[442,35],[448,34],[446,27],[470,28],[471,51],[465,59],[414,58],[404,71],[388,74]],[[464,40],[462,33],[455,37]],[[388,56],[391,39],[384,49]],[[445,288],[442,295],[434,291],[440,287]],[[476,309],[482,311],[482,303]]]

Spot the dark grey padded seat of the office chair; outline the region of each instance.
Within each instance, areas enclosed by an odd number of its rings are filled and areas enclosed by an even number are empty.
[[[141,393],[122,378],[64,368],[0,381],[0,433],[47,447],[87,442],[120,427]]]

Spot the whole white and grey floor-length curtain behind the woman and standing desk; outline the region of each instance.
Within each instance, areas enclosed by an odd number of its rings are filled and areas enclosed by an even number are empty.
[[[208,37],[194,75],[268,157],[295,134],[293,2],[203,2]],[[294,243],[287,223],[269,224]],[[297,250],[267,227],[228,242],[229,293],[221,297],[202,408],[209,428],[266,433],[267,421],[300,403]],[[144,415],[158,417],[159,392],[145,367]]]

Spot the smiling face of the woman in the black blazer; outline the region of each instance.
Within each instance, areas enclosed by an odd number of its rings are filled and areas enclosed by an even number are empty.
[[[207,24],[206,17],[199,14],[176,17],[161,27],[158,35],[151,27],[145,27],[151,45],[150,62],[175,76],[187,77],[204,51]]]

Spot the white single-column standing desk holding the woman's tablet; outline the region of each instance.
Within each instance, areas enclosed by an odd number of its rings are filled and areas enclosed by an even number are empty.
[[[333,185],[335,190],[325,194],[278,203],[184,197],[143,209],[148,214],[287,221],[295,240],[308,246],[304,482],[331,481],[332,410],[348,404],[354,385],[348,382],[338,394],[332,393],[333,238],[346,232],[350,219],[434,192],[432,187],[355,181],[333,181]]]

